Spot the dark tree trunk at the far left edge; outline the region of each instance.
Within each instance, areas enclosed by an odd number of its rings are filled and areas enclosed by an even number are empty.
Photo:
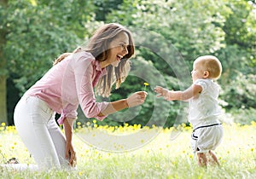
[[[2,7],[7,7],[7,0],[0,0]],[[2,19],[3,17],[1,17]],[[7,79],[7,65],[6,59],[3,55],[3,47],[6,43],[6,26],[3,24],[3,28],[0,29],[0,125],[2,123],[8,124],[7,118],[7,99],[6,99],[6,79]]]

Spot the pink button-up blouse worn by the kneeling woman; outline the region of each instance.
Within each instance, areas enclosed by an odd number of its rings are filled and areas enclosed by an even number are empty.
[[[25,95],[38,96],[51,109],[61,114],[59,124],[64,118],[76,118],[79,104],[87,118],[103,120],[99,117],[108,102],[96,102],[93,88],[99,78],[107,74],[100,62],[88,52],[81,51],[67,56],[63,61],[49,69]]]

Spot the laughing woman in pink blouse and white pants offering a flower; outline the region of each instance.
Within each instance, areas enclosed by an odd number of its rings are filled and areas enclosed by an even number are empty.
[[[138,91],[128,98],[96,102],[96,94],[109,96],[130,71],[134,43],[124,26],[111,23],[100,27],[86,48],[61,55],[43,78],[27,90],[15,107],[15,126],[39,169],[75,166],[72,143],[77,108],[87,118],[102,120],[108,114],[143,104],[147,93]],[[60,113],[65,136],[55,123]]]

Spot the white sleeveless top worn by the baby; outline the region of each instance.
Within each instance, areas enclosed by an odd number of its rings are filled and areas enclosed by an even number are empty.
[[[216,118],[221,114],[221,108],[218,106],[218,84],[212,79],[197,79],[194,84],[200,85],[202,90],[198,97],[189,100],[189,122],[194,128],[219,123]]]

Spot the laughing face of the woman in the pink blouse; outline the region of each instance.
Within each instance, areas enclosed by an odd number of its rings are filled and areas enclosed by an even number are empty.
[[[119,62],[128,54],[128,44],[129,36],[125,32],[120,32],[117,38],[110,43],[110,55],[106,61],[108,65],[119,66]]]

